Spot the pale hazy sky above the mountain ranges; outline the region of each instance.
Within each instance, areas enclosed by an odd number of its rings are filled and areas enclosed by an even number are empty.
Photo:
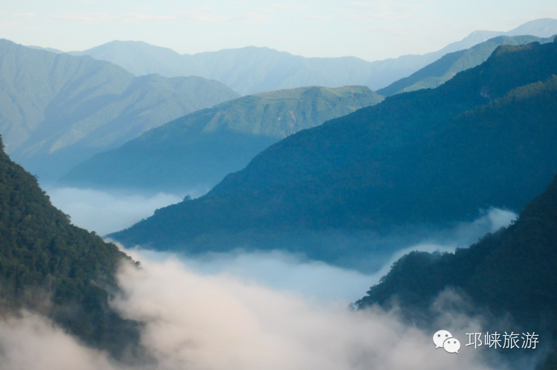
[[[0,37],[24,45],[70,51],[138,40],[179,53],[253,45],[369,61],[557,18],[555,0],[0,1]]]

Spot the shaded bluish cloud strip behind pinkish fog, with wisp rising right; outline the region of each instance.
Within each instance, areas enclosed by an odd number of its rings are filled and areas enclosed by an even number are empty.
[[[377,284],[391,269],[391,265],[403,255],[414,250],[453,252],[456,247],[468,247],[487,232],[507,226],[516,217],[511,211],[493,208],[473,222],[461,222],[445,230],[426,233],[421,238],[415,237],[414,242],[391,237],[391,252],[370,257],[381,261],[378,263],[380,267],[366,273],[278,250],[250,253],[236,250],[229,253],[206,253],[196,257],[176,255],[176,258],[200,274],[227,274],[271,289],[295,292],[321,303],[348,304],[363,297],[368,288]],[[377,241],[371,237],[369,242],[373,244]],[[385,240],[380,242],[389,246]],[[148,250],[141,251],[141,255],[158,260],[171,256]]]

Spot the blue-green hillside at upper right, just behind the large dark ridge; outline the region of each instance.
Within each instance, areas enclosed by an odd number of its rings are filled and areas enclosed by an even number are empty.
[[[401,78],[386,88],[381,88],[377,93],[383,96],[391,96],[396,93],[415,91],[421,88],[436,88],[441,83],[453,78],[456,73],[478,66],[478,64],[486,61],[497,46],[521,45],[535,41],[548,43],[553,41],[553,38],[539,38],[536,36],[498,36],[490,38],[488,41],[478,43],[478,45],[472,48],[448,53],[437,61],[421,68],[421,70],[412,73],[410,76]]]

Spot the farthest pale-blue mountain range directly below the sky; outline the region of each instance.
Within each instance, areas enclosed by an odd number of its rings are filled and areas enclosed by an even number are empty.
[[[159,73],[161,76],[201,76],[215,79],[242,95],[303,86],[337,87],[364,85],[376,91],[436,61],[446,53],[471,48],[495,36],[557,34],[557,20],[537,19],[508,32],[474,31],[439,51],[406,55],[384,61],[343,58],[303,58],[271,48],[226,49],[179,54],[169,48],[139,41],[111,41],[86,51],[71,52],[111,61],[136,76]]]

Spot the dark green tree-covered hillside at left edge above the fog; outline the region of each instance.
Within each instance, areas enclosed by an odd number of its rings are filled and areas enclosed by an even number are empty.
[[[139,327],[109,307],[115,273],[131,260],[54,208],[0,139],[0,312],[45,314],[86,344],[118,356]]]

